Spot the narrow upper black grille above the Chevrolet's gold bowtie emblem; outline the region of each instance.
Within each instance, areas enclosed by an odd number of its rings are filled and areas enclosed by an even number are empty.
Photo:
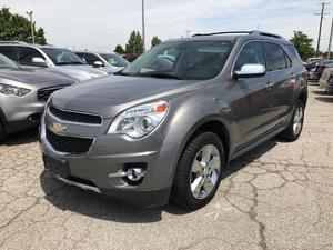
[[[87,113],[79,113],[72,111],[64,111],[57,109],[56,107],[49,108],[50,112],[64,121],[72,121],[72,122],[80,122],[80,123],[89,123],[89,124],[101,124],[102,118],[95,114],[87,114]]]

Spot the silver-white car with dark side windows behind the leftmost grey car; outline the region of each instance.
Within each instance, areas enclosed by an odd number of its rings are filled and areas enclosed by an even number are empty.
[[[93,69],[68,49],[53,46],[28,44],[26,42],[0,42],[0,53],[24,67],[42,67],[62,72],[75,80],[85,81],[105,76]]]

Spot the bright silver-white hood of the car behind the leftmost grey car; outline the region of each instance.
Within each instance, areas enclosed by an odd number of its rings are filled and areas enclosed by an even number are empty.
[[[51,72],[63,73],[70,78],[73,78],[78,81],[87,81],[93,78],[99,78],[107,76],[107,72],[101,70],[95,70],[90,66],[56,66],[48,68]]]

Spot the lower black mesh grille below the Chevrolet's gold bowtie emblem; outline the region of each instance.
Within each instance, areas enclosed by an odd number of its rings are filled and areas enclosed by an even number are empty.
[[[71,154],[87,153],[93,142],[93,139],[58,136],[48,128],[46,129],[46,136],[53,149]]]

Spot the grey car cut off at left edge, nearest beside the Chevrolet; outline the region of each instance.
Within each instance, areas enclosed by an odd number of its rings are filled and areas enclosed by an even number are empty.
[[[23,69],[0,53],[0,141],[39,124],[50,94],[74,82],[59,73]]]

